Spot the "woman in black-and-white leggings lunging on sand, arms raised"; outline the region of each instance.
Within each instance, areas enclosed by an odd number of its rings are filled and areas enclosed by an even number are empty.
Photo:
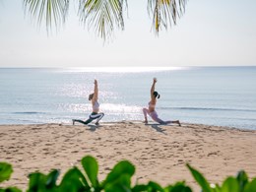
[[[97,102],[97,94],[98,94],[98,89],[97,89],[97,81],[95,80],[95,93],[89,95],[89,100],[92,101],[93,105],[93,112],[90,114],[89,119],[87,121],[82,121],[79,119],[72,119],[73,125],[75,122],[83,123],[83,124],[89,124],[93,120],[96,119],[96,125],[98,125],[98,121],[104,116],[104,113],[98,112],[99,111],[99,103]]]

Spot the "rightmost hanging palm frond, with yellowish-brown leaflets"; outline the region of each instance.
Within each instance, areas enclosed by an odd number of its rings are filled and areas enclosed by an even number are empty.
[[[177,3],[178,2],[178,3]],[[185,12],[187,0],[148,0],[148,12],[153,15],[153,29],[158,34],[163,27],[176,25]]]

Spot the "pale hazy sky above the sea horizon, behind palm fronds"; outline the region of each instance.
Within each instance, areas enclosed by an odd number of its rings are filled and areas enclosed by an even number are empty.
[[[0,67],[256,66],[255,0],[189,0],[177,25],[152,31],[147,0],[128,0],[125,30],[104,42],[70,1],[58,32],[34,23],[23,0],[0,0]]]

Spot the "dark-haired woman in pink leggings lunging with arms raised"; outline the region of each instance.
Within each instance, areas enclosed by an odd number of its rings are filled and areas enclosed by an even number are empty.
[[[153,79],[153,85],[151,88],[151,101],[149,102],[149,108],[143,108],[143,113],[145,117],[145,123],[148,123],[148,117],[147,114],[151,116],[151,118],[155,121],[157,121],[160,124],[170,124],[170,123],[176,123],[179,126],[180,122],[179,120],[175,121],[163,121],[159,118],[157,111],[155,110],[156,104],[157,104],[157,98],[160,98],[160,95],[158,92],[155,91],[155,85],[157,83],[157,78]]]

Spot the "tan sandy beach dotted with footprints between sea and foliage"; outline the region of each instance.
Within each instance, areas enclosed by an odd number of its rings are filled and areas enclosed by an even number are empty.
[[[60,178],[73,165],[91,155],[99,165],[98,178],[119,160],[136,166],[134,182],[149,180],[165,186],[186,180],[199,186],[186,162],[204,173],[211,183],[220,183],[240,169],[256,177],[256,131],[198,124],[159,125],[123,121],[95,125],[1,125],[0,161],[13,164],[14,173],[1,186],[27,189],[28,174],[61,169]]]

